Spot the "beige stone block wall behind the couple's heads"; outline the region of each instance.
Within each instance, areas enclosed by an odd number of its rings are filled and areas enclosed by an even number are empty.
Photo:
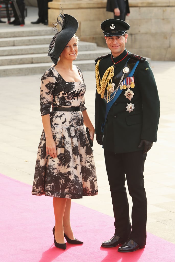
[[[34,1],[34,0],[33,0]],[[49,26],[61,12],[74,16],[79,23],[80,40],[106,47],[100,24],[113,18],[106,12],[107,0],[53,0],[48,3]],[[61,6],[60,6],[61,4]],[[175,0],[129,0],[130,15],[126,22],[127,49],[152,60],[175,60]]]

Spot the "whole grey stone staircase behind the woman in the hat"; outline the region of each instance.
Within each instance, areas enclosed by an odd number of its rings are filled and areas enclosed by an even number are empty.
[[[46,29],[0,30],[0,77],[42,74],[53,62],[47,56],[53,31]],[[109,53],[95,43],[79,43],[74,64],[83,71],[94,70],[94,59]]]

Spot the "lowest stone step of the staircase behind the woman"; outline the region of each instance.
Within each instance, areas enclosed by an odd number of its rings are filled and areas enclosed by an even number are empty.
[[[94,60],[74,61],[73,64],[79,66],[82,71],[93,71],[95,68]],[[52,63],[4,65],[0,66],[0,77],[7,77],[9,75],[42,75],[51,65]]]

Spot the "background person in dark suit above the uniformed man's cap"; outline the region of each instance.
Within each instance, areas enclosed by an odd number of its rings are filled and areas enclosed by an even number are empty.
[[[129,15],[128,0],[108,0],[106,11],[113,12],[115,19],[125,21],[126,15]]]

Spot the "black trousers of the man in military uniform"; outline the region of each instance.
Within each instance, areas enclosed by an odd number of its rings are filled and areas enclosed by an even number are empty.
[[[129,237],[139,245],[145,245],[147,199],[143,171],[146,154],[142,151],[114,154],[104,150],[104,156],[115,218],[115,234],[121,238]],[[133,202],[132,226],[129,219],[126,179]]]

